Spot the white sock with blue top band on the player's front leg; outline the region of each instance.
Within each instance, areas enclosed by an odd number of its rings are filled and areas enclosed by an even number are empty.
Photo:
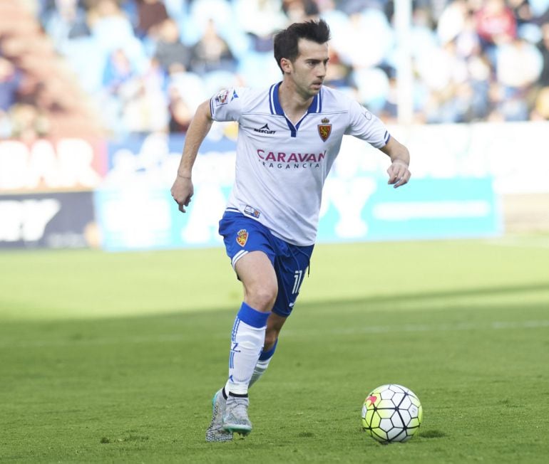
[[[244,396],[260,358],[269,312],[260,312],[242,302],[240,311],[232,326],[229,357],[229,379],[225,384],[227,394]]]

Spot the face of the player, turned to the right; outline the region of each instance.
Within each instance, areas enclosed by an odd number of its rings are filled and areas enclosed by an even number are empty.
[[[328,44],[300,38],[297,49],[297,58],[293,62],[288,61],[289,77],[296,92],[307,99],[320,92],[326,77]]]

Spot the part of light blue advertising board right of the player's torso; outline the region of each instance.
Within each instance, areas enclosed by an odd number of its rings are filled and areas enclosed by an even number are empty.
[[[503,223],[492,184],[491,178],[414,179],[393,189],[380,178],[347,180],[328,199],[318,241],[497,236]]]

